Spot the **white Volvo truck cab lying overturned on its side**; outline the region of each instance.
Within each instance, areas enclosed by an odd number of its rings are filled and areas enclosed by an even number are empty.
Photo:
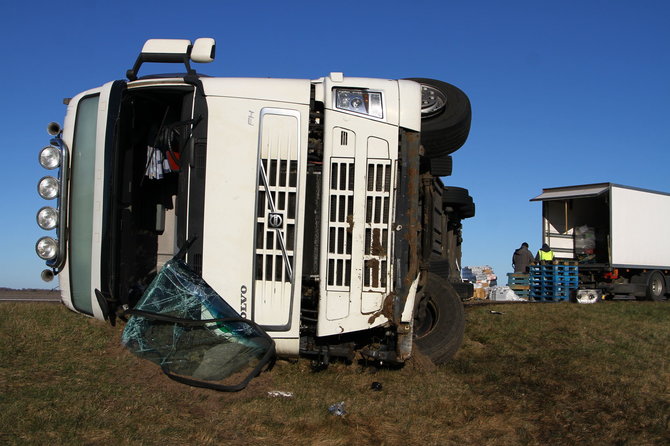
[[[471,110],[430,79],[207,77],[212,39],[149,40],[127,80],[67,100],[36,250],[70,309],[114,320],[186,256],[278,354],[449,359],[464,330],[466,189],[445,187]],[[143,63],[183,74],[138,78]]]

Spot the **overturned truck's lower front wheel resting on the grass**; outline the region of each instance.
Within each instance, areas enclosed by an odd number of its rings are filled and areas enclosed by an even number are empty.
[[[428,273],[414,306],[414,344],[435,364],[451,359],[463,342],[465,312],[449,282]]]

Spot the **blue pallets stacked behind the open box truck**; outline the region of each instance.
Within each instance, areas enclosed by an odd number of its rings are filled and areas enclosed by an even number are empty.
[[[579,283],[577,262],[557,261],[530,267],[530,298],[566,301]]]

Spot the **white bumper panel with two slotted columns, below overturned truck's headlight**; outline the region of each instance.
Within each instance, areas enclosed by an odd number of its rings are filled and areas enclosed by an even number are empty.
[[[398,141],[397,127],[383,122],[331,110],[327,110],[325,121],[330,128],[324,132],[328,164],[323,170],[323,189],[328,191],[328,200],[321,212],[322,221],[329,224],[322,226],[321,240],[330,252],[321,258],[325,280],[321,282],[318,336],[386,322],[383,316],[372,317],[372,323],[370,319],[392,291],[393,262],[387,254],[393,252],[390,228],[397,152],[391,147]],[[384,191],[379,179],[386,178],[387,172],[390,189]],[[366,221],[368,206],[379,219]],[[381,219],[384,213],[389,216],[385,222]],[[375,243],[373,239],[386,251],[368,249],[366,253],[368,244]]]

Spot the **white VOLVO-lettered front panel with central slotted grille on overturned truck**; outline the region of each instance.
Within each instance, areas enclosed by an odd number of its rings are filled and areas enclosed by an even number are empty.
[[[281,280],[253,280],[258,255],[274,262],[275,258],[282,257],[282,252],[278,245],[268,248],[264,240],[259,252],[254,231],[249,228],[261,223],[257,219],[257,201],[259,188],[264,190],[264,186],[259,186],[259,156],[298,159],[299,153],[305,153],[308,106],[209,96],[208,107],[210,116],[222,119],[209,123],[212,131],[208,134],[205,194],[220,197],[220,203],[205,209],[203,277],[243,316],[263,326],[281,327],[284,336],[297,337],[300,289],[293,285],[295,277],[300,277],[301,264],[293,261],[292,281],[283,267],[275,268],[277,265],[272,267],[283,274]],[[241,151],[244,147],[253,149]],[[254,166],[254,169],[249,171],[240,166]],[[297,193],[298,187],[304,188],[304,174],[301,167],[297,184],[286,183],[282,187],[290,187],[292,193]],[[273,196],[277,197],[278,193],[273,192]],[[295,228],[296,245],[289,250],[293,258],[295,251],[302,250],[300,240],[303,238],[298,216],[302,215],[304,204],[302,200],[296,202],[295,215],[290,218],[284,215],[285,225]],[[264,213],[261,220],[266,216]],[[222,230],[236,236],[221,237]],[[258,236],[264,239],[265,233]],[[272,276],[274,278],[274,273]]]

